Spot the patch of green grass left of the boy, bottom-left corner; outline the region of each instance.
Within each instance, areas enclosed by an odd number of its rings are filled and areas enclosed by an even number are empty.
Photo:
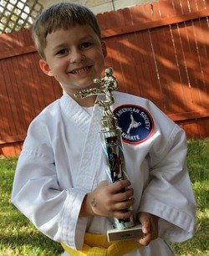
[[[39,233],[10,202],[17,160],[17,157],[0,158],[0,255],[60,255],[63,251],[60,244]]]

